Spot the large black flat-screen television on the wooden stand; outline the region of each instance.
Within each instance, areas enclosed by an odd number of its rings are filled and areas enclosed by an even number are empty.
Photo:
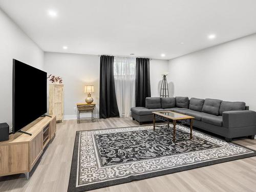
[[[47,112],[47,73],[13,59],[12,132]]]

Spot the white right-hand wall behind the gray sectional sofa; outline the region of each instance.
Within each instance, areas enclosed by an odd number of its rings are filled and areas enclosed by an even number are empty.
[[[256,110],[256,34],[169,60],[175,96],[244,101]]]

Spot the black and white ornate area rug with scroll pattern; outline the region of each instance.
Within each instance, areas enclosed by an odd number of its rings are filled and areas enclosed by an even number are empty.
[[[123,127],[76,133],[68,191],[87,191],[255,156],[234,143],[176,126]]]

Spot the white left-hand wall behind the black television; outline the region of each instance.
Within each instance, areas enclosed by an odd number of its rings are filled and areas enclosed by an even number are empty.
[[[0,123],[10,127],[13,58],[39,69],[44,66],[44,52],[0,9]]]

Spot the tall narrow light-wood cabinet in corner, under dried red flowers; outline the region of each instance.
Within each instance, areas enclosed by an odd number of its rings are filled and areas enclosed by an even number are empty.
[[[63,84],[49,84],[49,115],[56,115],[57,121],[63,121]]]

